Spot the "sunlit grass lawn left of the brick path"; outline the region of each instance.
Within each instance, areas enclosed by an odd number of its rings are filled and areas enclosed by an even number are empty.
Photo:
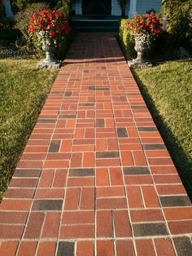
[[[0,60],[0,198],[58,73],[36,64]]]

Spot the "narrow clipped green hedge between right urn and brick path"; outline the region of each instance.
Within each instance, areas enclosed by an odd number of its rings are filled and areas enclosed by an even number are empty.
[[[120,20],[119,36],[120,43],[124,51],[124,55],[127,59],[136,58],[136,51],[134,50],[134,38],[129,31],[130,20],[122,19]]]

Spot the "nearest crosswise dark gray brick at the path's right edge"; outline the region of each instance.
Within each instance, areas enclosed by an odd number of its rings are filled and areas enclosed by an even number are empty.
[[[188,196],[159,196],[159,199],[163,207],[191,205]]]

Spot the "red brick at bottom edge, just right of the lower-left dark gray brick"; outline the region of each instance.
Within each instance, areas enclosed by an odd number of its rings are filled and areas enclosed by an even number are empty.
[[[76,256],[93,256],[94,242],[93,241],[78,241],[76,246]]]

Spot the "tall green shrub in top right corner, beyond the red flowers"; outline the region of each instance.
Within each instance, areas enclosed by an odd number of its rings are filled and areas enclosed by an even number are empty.
[[[164,0],[162,13],[168,15],[167,31],[172,40],[172,48],[189,46],[192,42],[191,0]]]

